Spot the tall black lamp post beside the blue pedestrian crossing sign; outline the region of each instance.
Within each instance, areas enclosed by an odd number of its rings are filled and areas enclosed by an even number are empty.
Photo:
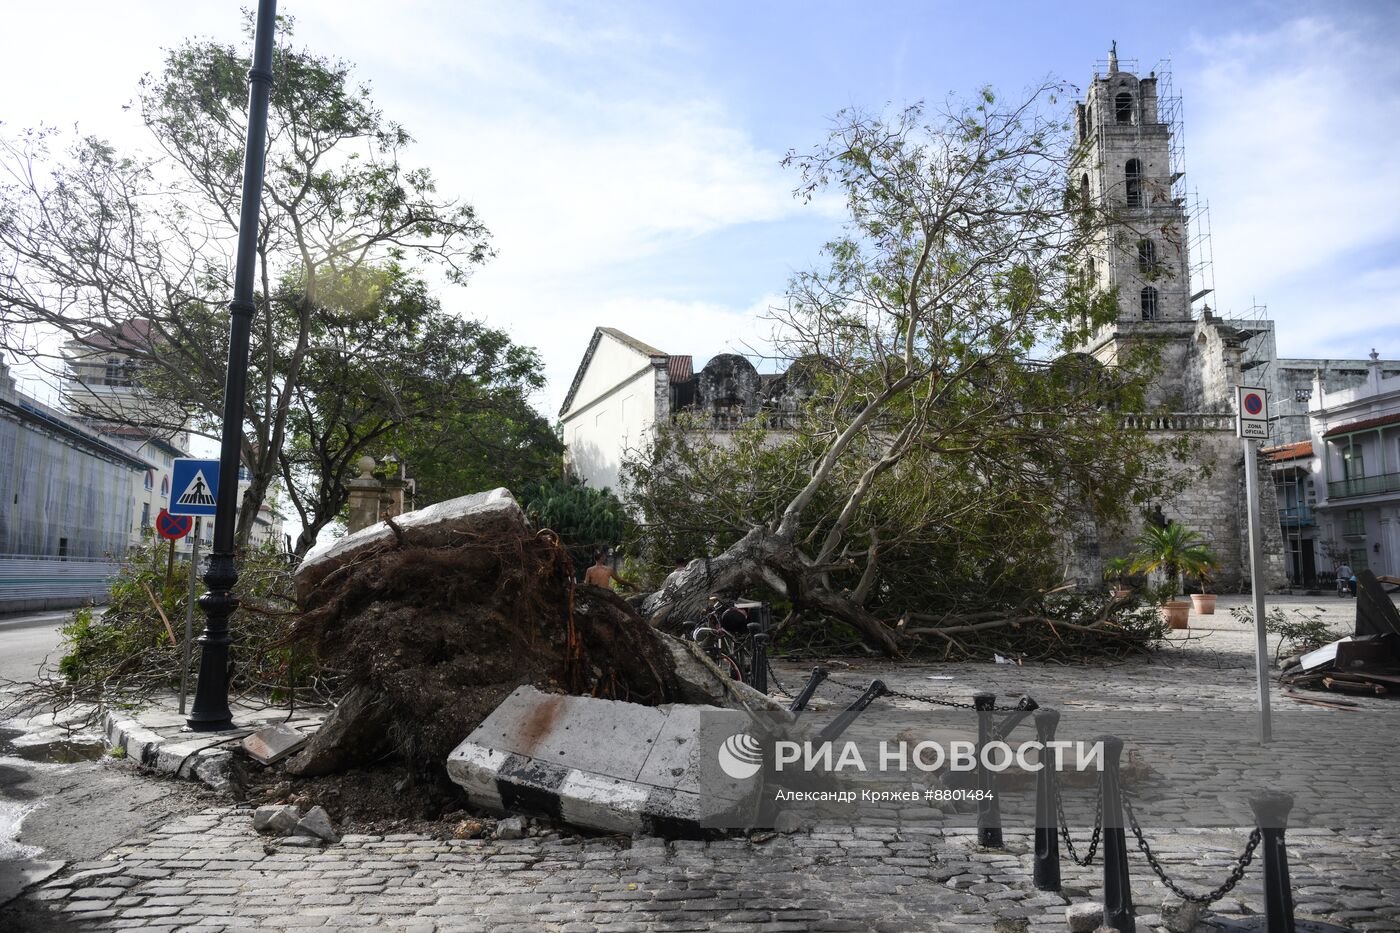
[[[234,532],[238,516],[238,468],[242,462],[244,396],[246,395],[248,332],[253,317],[253,276],[258,265],[258,216],[262,207],[263,156],[267,146],[267,95],[272,90],[273,28],[277,0],[259,0],[253,34],[253,67],[248,73],[248,143],[244,150],[244,203],[238,214],[238,265],[234,269],[234,300],[228,303],[228,377],[224,382],[224,436],[218,450],[218,499],[214,504],[214,549],[209,559],[199,598],[204,612],[200,636],[199,685],[189,727],[196,731],[230,728],[228,712],[228,616],[238,608],[232,594],[238,583],[234,567]]]

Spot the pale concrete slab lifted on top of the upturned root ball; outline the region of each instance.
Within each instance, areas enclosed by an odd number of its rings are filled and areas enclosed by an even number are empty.
[[[398,531],[395,531],[398,528]],[[371,551],[393,544],[412,548],[438,548],[461,544],[469,537],[490,538],[501,534],[526,534],[525,511],[508,489],[491,489],[458,499],[448,499],[426,509],[407,511],[363,528],[353,535],[323,541],[312,548],[293,574],[297,601],[307,598],[328,576]]]

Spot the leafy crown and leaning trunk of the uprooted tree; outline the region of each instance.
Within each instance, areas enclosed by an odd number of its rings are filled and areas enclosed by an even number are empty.
[[[1072,518],[1121,516],[1162,482],[1166,451],[1123,417],[1144,403],[1147,352],[1112,368],[1068,353],[1119,307],[1084,275],[1112,219],[1067,191],[1054,106],[1046,85],[934,119],[846,112],[790,154],[798,195],[834,189],[850,213],[773,312],[805,401],[781,430],[724,441],[682,419],[627,466],[643,528],[666,537],[652,552],[715,555],[648,598],[652,621],[763,587],[890,654],[916,636],[959,646],[1043,622]]]

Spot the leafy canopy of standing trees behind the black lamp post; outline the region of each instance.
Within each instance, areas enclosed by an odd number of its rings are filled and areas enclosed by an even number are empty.
[[[430,412],[497,445],[547,431],[525,403],[540,382],[535,354],[445,314],[423,284],[427,270],[462,283],[490,256],[473,209],[406,164],[412,137],[346,62],[298,48],[287,18],[277,39],[241,545],[273,479],[314,537],[363,450],[441,445]],[[56,343],[119,352],[143,389],[141,410],[91,392],[83,415],[217,437],[249,63],[238,43],[169,50],[140,87],[154,154],[95,137],[64,148],[50,129],[0,140],[4,349],[70,378]],[[508,430],[487,424],[498,416]]]

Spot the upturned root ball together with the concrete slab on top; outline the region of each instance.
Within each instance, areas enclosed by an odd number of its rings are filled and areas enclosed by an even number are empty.
[[[504,489],[440,503],[308,555],[294,637],[343,674],[344,699],[288,763],[328,775],[396,752],[441,768],[515,688],[641,705],[767,703],[678,649],[568,555]],[[680,668],[678,671],[678,668]],[[741,699],[742,698],[742,699]]]

